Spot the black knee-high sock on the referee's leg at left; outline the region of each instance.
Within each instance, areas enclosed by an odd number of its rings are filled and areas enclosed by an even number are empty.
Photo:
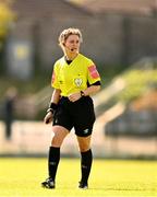
[[[53,181],[56,179],[59,161],[60,161],[60,148],[50,147],[49,158],[48,158],[48,171],[49,171],[49,177],[51,177]]]

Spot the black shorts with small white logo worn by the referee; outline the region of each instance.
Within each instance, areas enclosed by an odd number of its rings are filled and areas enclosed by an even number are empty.
[[[68,130],[74,127],[76,136],[87,137],[93,131],[94,121],[94,104],[89,96],[83,96],[76,102],[61,97],[52,124],[60,125]]]

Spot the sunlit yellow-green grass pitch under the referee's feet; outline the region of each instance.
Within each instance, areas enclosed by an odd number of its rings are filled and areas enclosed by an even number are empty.
[[[89,189],[77,188],[80,160],[62,159],[53,190],[40,187],[46,159],[0,159],[0,196],[5,197],[153,197],[157,161],[94,160]]]

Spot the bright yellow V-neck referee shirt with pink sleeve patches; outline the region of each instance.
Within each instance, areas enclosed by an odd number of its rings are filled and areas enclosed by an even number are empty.
[[[97,81],[100,81],[100,77],[94,62],[78,54],[70,65],[67,63],[64,57],[56,61],[51,85],[60,89],[62,96],[69,96],[85,90],[87,82],[93,84]]]

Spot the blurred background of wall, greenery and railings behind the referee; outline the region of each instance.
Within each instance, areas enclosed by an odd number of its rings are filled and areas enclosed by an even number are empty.
[[[47,155],[51,125],[43,119],[58,36],[70,26],[101,76],[95,157],[157,159],[156,0],[0,0],[0,157]],[[73,134],[62,155],[80,155]]]

